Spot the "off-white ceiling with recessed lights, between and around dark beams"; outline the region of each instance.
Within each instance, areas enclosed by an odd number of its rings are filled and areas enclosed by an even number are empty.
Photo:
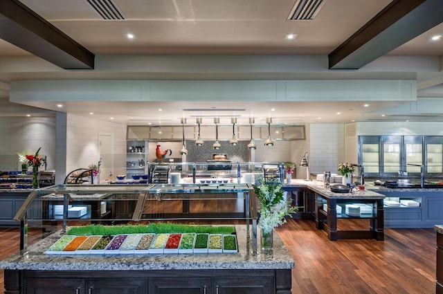
[[[359,70],[328,70],[327,55],[390,0],[326,0],[314,20],[309,21],[287,20],[296,0],[115,0],[125,20],[103,20],[87,0],[21,2],[95,54],[96,67],[91,71],[64,70],[0,39],[0,94],[3,98],[8,98],[8,84],[13,80],[56,79],[412,79],[417,80],[419,97],[443,98],[443,39],[431,42],[433,35],[443,35],[442,24]],[[128,40],[126,33],[133,33],[136,37]],[[296,34],[296,38],[284,39],[289,33]],[[193,56],[173,63],[174,58],[183,55]],[[266,55],[279,55],[283,64],[293,57],[300,62],[293,70],[288,65],[266,69],[263,64],[242,64],[239,69],[223,66],[224,59],[217,61],[220,55],[228,55],[233,58],[231,61],[238,55],[256,55],[255,60],[264,60]],[[147,58],[150,62],[155,57],[159,59],[156,59],[155,68],[145,68],[134,62],[135,57]],[[196,65],[197,62],[192,62],[201,59],[213,59],[216,66],[204,68],[204,63]],[[165,60],[170,62],[163,62]],[[424,64],[422,60],[428,60],[430,64]],[[60,111],[54,102],[25,104]],[[113,117],[114,121],[128,125],[143,124],[147,117],[177,124],[178,118],[195,114],[182,111],[192,104],[190,102],[70,101],[63,104],[62,111],[82,116],[93,112],[96,118],[109,120]],[[199,107],[243,107],[246,110],[241,115],[245,118],[255,113],[257,117],[273,116],[281,123],[291,120],[290,123],[298,124],[393,120],[392,116],[380,117],[380,113],[391,107],[391,114],[395,115],[392,106],[401,102],[372,102],[370,107],[363,107],[363,104],[362,101],[201,102]],[[159,108],[167,111],[159,111]],[[275,108],[272,113],[269,112],[271,108]],[[435,113],[431,114],[433,120],[440,120]],[[410,119],[426,120],[418,116]]]

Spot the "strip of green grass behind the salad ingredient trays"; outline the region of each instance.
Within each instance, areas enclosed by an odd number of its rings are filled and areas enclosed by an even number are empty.
[[[88,225],[73,227],[66,232],[66,235],[118,235],[118,234],[137,234],[137,233],[183,233],[183,232],[203,232],[208,234],[230,235],[235,232],[233,226],[193,226],[182,223],[150,223],[148,225],[127,225],[127,226],[102,226]]]

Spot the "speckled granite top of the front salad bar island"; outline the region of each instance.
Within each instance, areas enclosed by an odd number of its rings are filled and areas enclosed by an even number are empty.
[[[235,226],[238,253],[168,254],[168,255],[45,255],[61,235],[46,237],[28,248],[28,254],[13,255],[0,261],[0,268],[10,270],[204,270],[204,269],[290,269],[294,261],[274,232],[272,253],[252,255],[246,241],[246,226]],[[259,233],[260,234],[260,233]],[[260,236],[259,236],[260,238]]]

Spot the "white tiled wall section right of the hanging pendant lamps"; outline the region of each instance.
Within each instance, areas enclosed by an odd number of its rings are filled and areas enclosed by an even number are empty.
[[[338,164],[344,160],[344,129],[343,124],[310,125],[311,173],[337,172]]]

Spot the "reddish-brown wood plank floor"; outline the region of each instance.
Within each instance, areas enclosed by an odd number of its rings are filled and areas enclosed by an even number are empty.
[[[311,221],[289,220],[277,232],[296,262],[293,294],[435,293],[433,229],[386,229],[385,241],[329,241]],[[0,246],[0,259],[17,252],[18,230],[0,229]]]

